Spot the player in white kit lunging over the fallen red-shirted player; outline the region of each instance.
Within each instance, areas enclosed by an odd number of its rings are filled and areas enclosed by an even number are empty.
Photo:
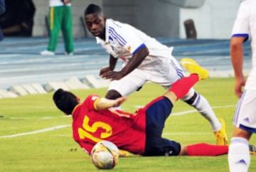
[[[147,81],[165,88],[183,77],[183,70],[171,55],[172,49],[147,36],[127,23],[105,18],[100,6],[90,4],[85,9],[87,29],[96,37],[97,43],[110,54],[110,64],[100,70],[100,76],[112,80],[105,96],[114,100],[139,90]],[[114,71],[118,58],[123,68]],[[189,63],[189,59],[181,63]],[[216,144],[226,145],[225,123],[218,120],[205,97],[192,88],[182,99],[195,107],[208,119],[216,137]]]

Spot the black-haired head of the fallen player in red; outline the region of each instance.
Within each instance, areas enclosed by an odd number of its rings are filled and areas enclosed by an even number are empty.
[[[56,107],[65,114],[72,114],[75,106],[79,104],[78,98],[73,93],[61,88],[54,92],[53,101]]]

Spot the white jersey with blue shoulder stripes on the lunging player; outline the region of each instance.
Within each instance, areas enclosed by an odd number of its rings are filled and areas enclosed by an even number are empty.
[[[159,43],[155,38],[147,36],[127,23],[120,23],[109,18],[106,20],[105,26],[106,41],[96,37],[97,43],[100,43],[107,50],[107,53],[124,60],[124,63],[127,63],[132,55],[143,46],[149,49],[149,55],[139,65],[139,68],[153,63],[155,60],[173,58],[171,56],[173,48]]]

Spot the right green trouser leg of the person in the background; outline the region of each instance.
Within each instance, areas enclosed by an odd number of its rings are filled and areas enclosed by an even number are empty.
[[[73,18],[72,18],[72,7],[63,6],[63,18],[61,23],[61,30],[63,33],[65,52],[71,55],[74,52],[73,43]]]

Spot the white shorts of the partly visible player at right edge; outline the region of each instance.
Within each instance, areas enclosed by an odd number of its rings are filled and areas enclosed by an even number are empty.
[[[235,110],[235,127],[256,132],[256,90],[245,90]]]

